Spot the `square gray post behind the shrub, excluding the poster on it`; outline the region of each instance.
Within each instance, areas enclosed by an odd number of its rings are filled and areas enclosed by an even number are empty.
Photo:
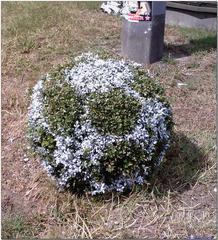
[[[163,55],[166,3],[153,1],[151,21],[123,20],[122,55],[141,64],[157,62]]]

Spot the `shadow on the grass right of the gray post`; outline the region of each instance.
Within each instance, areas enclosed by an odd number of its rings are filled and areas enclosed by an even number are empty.
[[[217,48],[217,36],[209,35],[198,39],[190,39],[187,44],[165,44],[164,54],[174,58],[179,56],[190,56],[201,51],[210,51]]]

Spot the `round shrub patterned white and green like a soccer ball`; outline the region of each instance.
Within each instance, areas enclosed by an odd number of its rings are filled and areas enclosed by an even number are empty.
[[[169,147],[172,118],[139,65],[86,53],[38,81],[28,125],[59,186],[94,195],[145,183]]]

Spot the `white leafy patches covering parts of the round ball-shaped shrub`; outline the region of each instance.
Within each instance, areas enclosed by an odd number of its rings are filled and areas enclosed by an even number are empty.
[[[101,158],[107,148],[115,142],[134,141],[148,155],[145,161],[154,161],[156,166],[162,161],[169,147],[170,130],[166,119],[171,117],[171,110],[158,98],[143,98],[130,87],[130,84],[134,83],[133,70],[136,67],[124,61],[102,60],[97,55],[86,53],[75,58],[75,66],[72,69],[65,70],[65,81],[82,96],[120,88],[125,94],[140,102],[141,110],[137,122],[132,131],[124,136],[100,134],[89,118],[90,109],[87,104],[84,104],[84,113],[74,125],[73,134],[65,136],[60,133],[61,131],[58,134],[52,132],[43,115],[45,90],[43,84],[49,80],[49,75],[44,80],[38,81],[34,87],[29,107],[30,138],[33,144],[35,143],[35,150],[43,156],[43,166],[50,175],[54,175],[54,169],[61,166],[59,174],[55,176],[61,187],[71,187],[71,181],[76,179],[85,182],[95,195],[113,190],[123,192],[134,184],[145,183],[149,174],[149,167],[146,164],[142,165],[140,171],[133,172],[131,177],[121,174],[117,179],[113,179],[111,184],[95,179],[94,173],[100,172],[101,169]],[[41,136],[37,131],[39,128],[54,137],[56,146],[53,152],[40,146]],[[163,146],[158,150],[158,156],[154,158],[159,141]],[[52,155],[52,163],[47,160],[46,154]]]

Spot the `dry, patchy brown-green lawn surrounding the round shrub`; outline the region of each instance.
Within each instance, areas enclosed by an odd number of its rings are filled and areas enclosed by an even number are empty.
[[[143,190],[107,198],[60,192],[26,140],[41,75],[85,51],[120,54],[121,19],[96,2],[2,2],[2,237],[186,238],[216,234],[216,34],[166,26],[163,84],[174,137]]]

